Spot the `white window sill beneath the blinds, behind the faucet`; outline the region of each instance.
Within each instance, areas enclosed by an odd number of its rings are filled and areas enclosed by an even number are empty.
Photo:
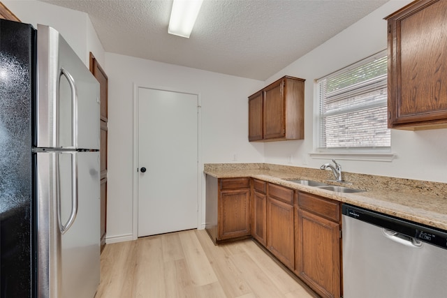
[[[391,152],[312,152],[309,154],[314,159],[340,159],[344,161],[386,161],[391,162],[396,154]]]

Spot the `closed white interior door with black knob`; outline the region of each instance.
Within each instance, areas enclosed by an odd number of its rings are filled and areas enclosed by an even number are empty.
[[[138,88],[138,237],[197,228],[197,109],[196,94]]]

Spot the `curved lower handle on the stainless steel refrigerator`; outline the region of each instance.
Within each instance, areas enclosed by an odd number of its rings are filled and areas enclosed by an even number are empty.
[[[61,191],[60,191],[60,179],[59,179],[59,158],[56,158],[57,169],[57,218],[59,221],[59,230],[61,234],[65,234],[71,225],[75,222],[76,215],[78,214],[78,158],[76,154],[71,154],[71,212],[67,222],[62,224],[61,221]]]

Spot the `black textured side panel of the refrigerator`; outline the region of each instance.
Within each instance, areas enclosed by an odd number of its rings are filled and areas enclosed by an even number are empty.
[[[32,297],[36,261],[32,170],[36,31],[0,20],[0,297]]]

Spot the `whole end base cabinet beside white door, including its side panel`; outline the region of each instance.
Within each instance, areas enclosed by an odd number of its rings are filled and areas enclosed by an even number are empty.
[[[205,229],[214,243],[247,237],[250,230],[250,179],[207,175]]]

